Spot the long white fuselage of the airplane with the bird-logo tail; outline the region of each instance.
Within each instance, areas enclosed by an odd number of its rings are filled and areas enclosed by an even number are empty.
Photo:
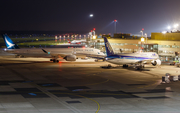
[[[22,49],[6,49],[4,51],[23,55],[27,57],[52,57],[57,54],[65,54],[65,55],[76,55],[78,57],[86,57],[88,55],[99,55],[104,56],[98,49],[94,48],[43,48],[48,53],[45,53],[42,48],[22,48]]]

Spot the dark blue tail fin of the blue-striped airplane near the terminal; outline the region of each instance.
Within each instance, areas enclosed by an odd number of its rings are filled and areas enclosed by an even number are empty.
[[[104,44],[105,44],[107,56],[114,55],[114,51],[106,37],[104,37]]]

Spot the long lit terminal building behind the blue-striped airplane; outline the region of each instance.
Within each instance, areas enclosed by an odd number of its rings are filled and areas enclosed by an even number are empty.
[[[129,34],[115,34],[108,38],[115,53],[133,53],[142,49],[144,52],[156,52],[161,61],[180,60],[180,33],[151,33],[151,37],[144,38],[130,36]],[[104,40],[96,39],[94,46],[102,51]]]

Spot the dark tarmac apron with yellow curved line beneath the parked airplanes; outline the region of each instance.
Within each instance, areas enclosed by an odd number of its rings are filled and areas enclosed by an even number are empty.
[[[0,113],[179,113],[180,82],[162,76],[180,68],[101,68],[108,64],[0,53]]]

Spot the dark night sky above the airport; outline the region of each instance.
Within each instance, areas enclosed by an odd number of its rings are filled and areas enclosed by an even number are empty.
[[[180,0],[1,0],[0,30],[150,35],[180,24]],[[94,14],[93,17],[89,17]]]

